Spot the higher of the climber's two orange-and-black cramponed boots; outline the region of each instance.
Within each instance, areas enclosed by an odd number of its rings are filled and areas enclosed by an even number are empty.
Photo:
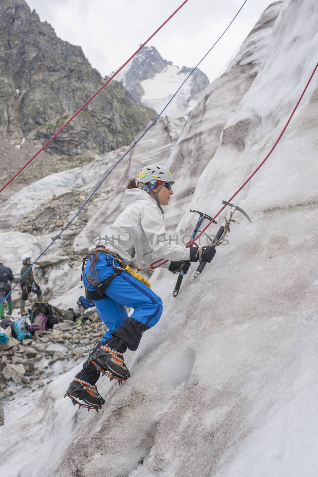
[[[96,366],[99,372],[108,376],[111,381],[115,379],[118,381],[118,384],[122,384],[130,376],[128,368],[123,361],[123,353],[127,349],[126,346],[121,340],[113,337],[109,338],[105,344],[98,344],[98,348],[95,346],[93,353],[90,353],[92,364]],[[111,347],[109,344],[113,346]]]

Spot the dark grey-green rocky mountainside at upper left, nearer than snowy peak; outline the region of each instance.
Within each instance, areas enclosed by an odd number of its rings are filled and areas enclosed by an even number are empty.
[[[44,144],[103,83],[81,47],[60,40],[24,0],[0,3],[1,142],[7,139],[22,149],[25,139]],[[92,160],[129,144],[153,116],[154,111],[137,104],[121,83],[112,82],[46,151],[71,157],[71,165],[74,156]],[[9,159],[10,152],[1,156],[3,178],[15,172]]]

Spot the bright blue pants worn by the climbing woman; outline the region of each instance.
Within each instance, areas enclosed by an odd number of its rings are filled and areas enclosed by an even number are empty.
[[[92,278],[96,278],[98,283],[110,277],[116,270],[113,267],[113,258],[113,255],[109,253],[99,254],[99,259],[95,262],[97,277],[94,277],[93,272],[91,273]],[[116,267],[119,267],[117,261],[114,264]],[[85,289],[89,284],[88,274],[90,266],[91,261],[88,259],[83,275]],[[94,291],[92,285],[88,286],[88,290]],[[125,270],[113,278],[105,290],[105,295],[105,298],[101,300],[93,300],[101,320],[108,328],[102,339],[103,343],[108,338],[111,338],[112,332],[116,331],[123,324],[123,321],[128,318],[126,306],[134,309],[129,320],[136,320],[148,328],[154,326],[161,317],[163,309],[161,298],[142,281],[136,279]]]

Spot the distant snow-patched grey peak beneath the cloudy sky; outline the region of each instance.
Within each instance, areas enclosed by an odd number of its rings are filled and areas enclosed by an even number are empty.
[[[136,101],[160,113],[192,69],[179,68],[164,60],[154,46],[144,46],[117,80]],[[208,84],[206,74],[197,68],[164,114],[173,118],[187,116]]]

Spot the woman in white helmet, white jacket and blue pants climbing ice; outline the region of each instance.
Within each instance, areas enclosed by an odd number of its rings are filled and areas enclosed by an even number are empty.
[[[138,179],[128,184],[123,212],[89,247],[82,277],[86,297],[94,301],[108,331],[94,345],[65,393],[74,405],[98,412],[105,402],[95,386],[100,373],[119,384],[126,381],[130,373],[123,353],[127,348],[135,351],[143,333],[162,314],[161,298],[130,267],[137,269],[143,262],[150,264],[162,258],[169,260],[166,267],[171,272],[183,268],[186,273],[190,262],[210,262],[215,255],[213,247],[186,248],[166,238],[161,206],[168,205],[173,184],[166,167],[145,166]],[[126,306],[134,310],[130,317]]]

